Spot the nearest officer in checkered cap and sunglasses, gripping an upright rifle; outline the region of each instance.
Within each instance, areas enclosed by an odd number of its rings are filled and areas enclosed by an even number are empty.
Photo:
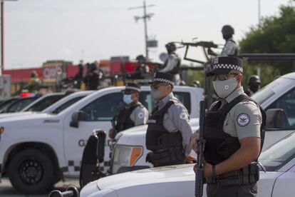
[[[264,140],[265,113],[244,94],[243,61],[217,57],[211,71],[219,96],[205,116],[205,166],[208,197],[257,196],[257,158]],[[191,137],[197,151],[198,132]]]

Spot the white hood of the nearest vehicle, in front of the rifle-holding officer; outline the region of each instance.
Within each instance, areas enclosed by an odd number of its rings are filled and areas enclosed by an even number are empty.
[[[89,183],[84,191],[92,189],[92,192],[102,193],[114,191],[117,196],[135,196],[133,194],[143,191],[136,196],[194,196],[195,172],[192,170],[195,164],[183,164],[177,166],[163,166],[148,168],[140,171],[119,173],[113,176],[100,178]],[[284,172],[260,172],[258,181],[259,196],[271,196],[274,181]],[[206,185],[204,196],[206,196]],[[100,192],[98,192],[100,193]],[[115,196],[115,195],[113,195]]]

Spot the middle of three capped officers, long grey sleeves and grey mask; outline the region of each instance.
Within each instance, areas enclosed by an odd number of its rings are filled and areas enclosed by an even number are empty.
[[[157,105],[148,119],[145,144],[152,152],[148,153],[147,161],[154,167],[192,161],[189,114],[185,106],[173,96],[174,77],[157,72],[149,84],[150,94]]]

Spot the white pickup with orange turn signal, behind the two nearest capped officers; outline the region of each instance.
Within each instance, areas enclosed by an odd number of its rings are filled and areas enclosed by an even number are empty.
[[[252,98],[265,111],[270,108],[282,108],[286,113],[287,119],[284,125],[274,125],[276,129],[266,130],[264,149],[295,131],[295,73],[281,76],[254,94]],[[198,103],[197,100],[193,101],[192,107],[197,109]],[[198,115],[190,114],[190,116],[195,118]],[[194,128],[198,127],[198,121],[192,122],[191,125],[194,126],[193,131],[196,131]],[[147,126],[138,126],[118,133],[110,161],[111,174],[152,167],[150,163],[145,162],[148,153],[145,147],[146,129]],[[135,148],[141,148],[141,154],[134,154]]]

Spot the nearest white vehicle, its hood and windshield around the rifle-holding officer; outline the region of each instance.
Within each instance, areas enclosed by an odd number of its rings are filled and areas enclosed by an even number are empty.
[[[266,172],[260,171],[258,196],[294,196],[295,133],[263,151],[259,161]],[[83,187],[80,196],[195,196],[194,165],[149,168],[100,178]],[[204,197],[207,196],[206,185],[203,193]]]

